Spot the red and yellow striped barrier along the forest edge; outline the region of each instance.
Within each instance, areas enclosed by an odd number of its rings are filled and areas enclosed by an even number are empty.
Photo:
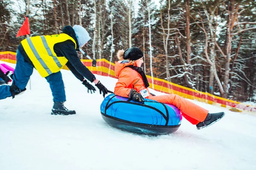
[[[0,52],[0,60],[5,62],[10,62],[16,64],[16,53],[11,51]],[[102,76],[108,76],[113,78],[118,78],[115,76],[114,69],[115,64],[109,62],[106,59],[97,59],[97,66],[92,66],[92,60],[90,59],[81,59],[81,62],[93,73]],[[64,66],[63,69],[69,70],[67,66]],[[151,77],[147,75],[149,87],[152,88]],[[256,106],[246,105],[244,103],[236,102],[229,99],[224,99],[222,97],[214,96],[209,93],[196,91],[194,89],[186,88],[181,85],[177,85],[172,82],[168,82],[164,79],[159,79],[153,77],[154,80],[154,90],[164,92],[167,94],[177,94],[187,99],[196,99],[200,102],[205,102],[211,105],[220,104],[222,107],[234,107],[243,109],[246,111],[256,112]]]

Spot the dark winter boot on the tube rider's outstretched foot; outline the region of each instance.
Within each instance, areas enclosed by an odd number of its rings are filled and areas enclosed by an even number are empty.
[[[221,118],[223,118],[223,116],[225,115],[224,112],[220,112],[220,113],[208,113],[206,118],[204,119],[203,122],[200,122],[196,125],[197,129],[202,129],[204,127],[208,127],[212,124],[214,124],[215,122],[219,121]]]

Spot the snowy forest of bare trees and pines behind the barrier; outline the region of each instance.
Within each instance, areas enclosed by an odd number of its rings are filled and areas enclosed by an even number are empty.
[[[148,75],[256,100],[255,0],[0,0],[0,51],[15,52],[25,38],[16,38],[23,15],[31,36],[80,24],[93,58],[114,62],[118,50],[137,46]]]

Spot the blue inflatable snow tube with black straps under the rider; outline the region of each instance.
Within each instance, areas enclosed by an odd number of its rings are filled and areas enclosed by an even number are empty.
[[[174,133],[181,123],[178,108],[155,100],[144,103],[108,95],[100,106],[102,118],[113,127],[147,135]]]

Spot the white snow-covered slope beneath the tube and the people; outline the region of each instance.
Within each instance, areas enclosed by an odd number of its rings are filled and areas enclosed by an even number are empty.
[[[87,94],[70,71],[61,72],[65,105],[76,115],[50,114],[49,85],[35,70],[31,90],[28,84],[24,94],[0,100],[0,170],[256,169],[256,116],[193,101],[226,115],[201,130],[183,119],[171,135],[128,133],[102,119],[99,91]],[[96,77],[113,91],[116,79]]]

